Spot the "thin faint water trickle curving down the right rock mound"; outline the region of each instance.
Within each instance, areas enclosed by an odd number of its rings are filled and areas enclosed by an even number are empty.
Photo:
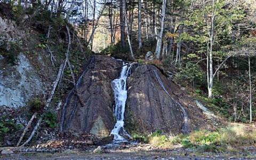
[[[156,78],[157,78],[157,81],[158,83],[160,84],[160,86],[162,87],[162,89],[165,91],[165,93],[167,95],[169,95],[169,97],[180,107],[180,109],[182,110],[182,113],[183,113],[183,117],[184,117],[184,123],[183,123],[183,126],[182,126],[182,130],[183,130],[183,133],[187,134],[189,133],[189,128],[188,128],[188,115],[186,113],[186,110],[180,105],[180,103],[178,101],[176,101],[175,99],[173,99],[170,95],[170,93],[165,89],[164,87],[164,84],[161,80],[161,78],[159,77],[157,71],[154,69],[154,73],[156,75]]]

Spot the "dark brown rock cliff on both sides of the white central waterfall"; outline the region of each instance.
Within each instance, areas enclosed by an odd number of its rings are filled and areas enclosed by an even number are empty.
[[[100,138],[110,134],[115,125],[111,81],[119,76],[121,66],[119,60],[93,56],[77,92],[73,89],[66,98],[67,105],[60,116],[61,131],[92,133]],[[167,91],[159,84],[156,74]],[[187,132],[209,126],[196,104],[152,65],[132,69],[127,79],[127,93],[124,127],[130,134],[149,134],[157,130],[182,133],[184,111],[188,117]]]

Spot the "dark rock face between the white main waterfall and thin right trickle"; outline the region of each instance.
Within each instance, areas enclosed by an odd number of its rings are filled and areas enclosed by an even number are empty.
[[[182,127],[182,113],[158,84],[153,69],[156,68],[142,65],[127,80],[125,128],[130,132],[168,133]]]

